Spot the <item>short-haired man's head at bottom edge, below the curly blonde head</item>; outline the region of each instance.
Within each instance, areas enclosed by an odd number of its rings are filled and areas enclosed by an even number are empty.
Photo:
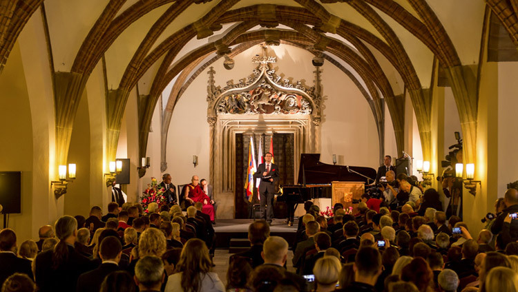
[[[146,255],[135,265],[133,280],[140,291],[160,291],[164,282],[164,263],[160,258]]]

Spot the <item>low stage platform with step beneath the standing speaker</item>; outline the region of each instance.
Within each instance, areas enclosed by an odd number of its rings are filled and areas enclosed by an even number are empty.
[[[216,219],[216,248],[228,249],[232,238],[248,238],[248,227],[253,219]],[[288,226],[285,219],[274,219],[270,226],[270,236],[280,236],[291,246],[297,232],[298,220]]]

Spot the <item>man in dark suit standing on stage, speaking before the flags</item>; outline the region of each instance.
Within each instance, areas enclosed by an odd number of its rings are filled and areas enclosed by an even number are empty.
[[[265,154],[265,163],[261,163],[257,167],[257,172],[253,174],[254,180],[256,178],[261,179],[258,189],[261,202],[261,218],[265,219],[270,225],[271,219],[274,217],[275,183],[279,180],[279,169],[277,165],[271,163],[272,158],[274,158],[274,156],[271,155],[270,152],[267,152]]]

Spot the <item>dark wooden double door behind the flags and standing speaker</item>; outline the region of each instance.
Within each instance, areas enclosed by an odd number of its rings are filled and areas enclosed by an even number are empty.
[[[265,154],[269,151],[270,138],[273,136],[274,163],[279,169],[279,183],[280,185],[294,184],[294,134],[236,134],[236,213],[234,217],[236,219],[253,218],[253,205],[259,204],[257,189],[255,187],[253,189],[251,202],[247,199],[247,190],[244,189],[244,184],[247,182],[248,153],[252,135],[256,149],[256,160],[261,141],[262,152]],[[276,202],[274,204],[274,218],[286,218],[286,216],[285,202]]]

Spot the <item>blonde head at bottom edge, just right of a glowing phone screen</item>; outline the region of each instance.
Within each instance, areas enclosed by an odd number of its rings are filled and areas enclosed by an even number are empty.
[[[316,292],[334,291],[341,270],[342,264],[338,258],[329,255],[319,258],[313,267]]]

